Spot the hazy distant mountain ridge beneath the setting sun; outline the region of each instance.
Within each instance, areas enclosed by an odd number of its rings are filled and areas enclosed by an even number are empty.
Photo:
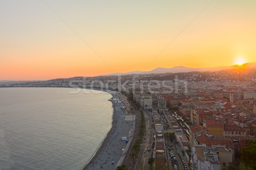
[[[185,66],[175,66],[172,68],[158,67],[151,71],[129,71],[127,73],[112,73],[102,76],[118,76],[118,75],[128,75],[128,74],[160,74],[160,73],[183,73],[191,71],[220,71],[226,69],[234,68],[256,68],[256,62],[247,62],[242,65],[230,65],[230,66],[217,66],[217,67],[201,67],[201,68],[191,68]]]

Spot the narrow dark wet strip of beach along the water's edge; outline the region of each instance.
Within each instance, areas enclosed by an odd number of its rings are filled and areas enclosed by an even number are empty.
[[[107,92],[107,91],[105,91]],[[111,94],[110,92],[107,92],[109,94]],[[112,115],[112,127],[111,129],[108,131],[108,134],[106,135],[105,139],[103,139],[103,142],[102,144],[100,145],[100,147],[98,148],[98,150],[94,153],[93,157],[87,162],[87,164],[82,168],[82,170],[86,170],[91,162],[93,162],[98,156],[99,156],[99,153],[101,153],[101,151],[103,150],[103,148],[105,147],[105,145],[107,144],[108,142],[108,138],[111,136],[111,133],[113,131],[113,128],[114,128],[114,125],[115,125],[115,114],[116,114],[116,109],[115,109],[115,102],[113,101],[113,94],[111,94],[112,97],[111,97],[111,102],[112,102],[112,107],[113,107],[113,115]]]

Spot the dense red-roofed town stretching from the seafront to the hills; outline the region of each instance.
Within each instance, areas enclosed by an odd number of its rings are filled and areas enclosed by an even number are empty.
[[[256,139],[256,68],[73,77],[0,87],[90,88],[124,94],[148,117],[153,136],[145,147],[156,170],[226,170],[239,165],[242,148]]]

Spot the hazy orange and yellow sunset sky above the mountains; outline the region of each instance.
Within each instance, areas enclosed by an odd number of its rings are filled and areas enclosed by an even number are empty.
[[[256,0],[0,0],[0,80],[256,62],[255,9]]]

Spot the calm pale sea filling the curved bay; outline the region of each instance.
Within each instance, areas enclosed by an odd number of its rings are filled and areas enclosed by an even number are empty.
[[[111,129],[112,96],[77,92],[0,88],[0,170],[80,170],[90,160]]]

